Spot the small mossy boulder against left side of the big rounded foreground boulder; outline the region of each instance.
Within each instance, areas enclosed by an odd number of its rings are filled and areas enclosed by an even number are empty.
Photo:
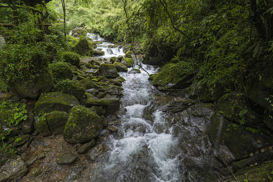
[[[45,116],[52,134],[62,134],[69,114],[63,111],[53,111]]]

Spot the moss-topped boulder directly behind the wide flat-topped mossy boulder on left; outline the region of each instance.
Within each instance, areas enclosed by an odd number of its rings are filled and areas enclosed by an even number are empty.
[[[70,94],[78,100],[83,98],[86,88],[74,80],[62,80],[54,88],[55,92]]]

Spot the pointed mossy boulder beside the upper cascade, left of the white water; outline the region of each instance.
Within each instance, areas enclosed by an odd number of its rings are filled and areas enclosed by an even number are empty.
[[[93,54],[93,49],[91,45],[89,44],[88,40],[83,36],[80,37],[79,41],[75,44],[73,50],[75,53],[78,53],[82,56]]]

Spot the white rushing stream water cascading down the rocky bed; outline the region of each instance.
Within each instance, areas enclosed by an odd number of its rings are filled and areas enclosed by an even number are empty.
[[[111,43],[98,47],[106,49],[106,45]],[[103,58],[124,55],[122,49],[109,49],[112,52],[105,51]],[[158,72],[150,65],[142,67],[149,74]],[[82,180],[176,182],[221,177],[221,164],[212,155],[198,108],[166,112],[165,105],[176,99],[158,92],[145,71],[120,76],[126,80],[121,98],[126,113],[119,115],[118,132],[108,136],[109,151],[95,161],[92,172],[85,171]]]

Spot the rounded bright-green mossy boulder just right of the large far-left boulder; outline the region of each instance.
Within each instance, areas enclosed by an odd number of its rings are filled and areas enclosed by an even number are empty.
[[[53,63],[49,65],[49,68],[51,69],[54,79],[57,81],[62,79],[71,80],[73,78],[73,72],[68,63],[64,62]]]

